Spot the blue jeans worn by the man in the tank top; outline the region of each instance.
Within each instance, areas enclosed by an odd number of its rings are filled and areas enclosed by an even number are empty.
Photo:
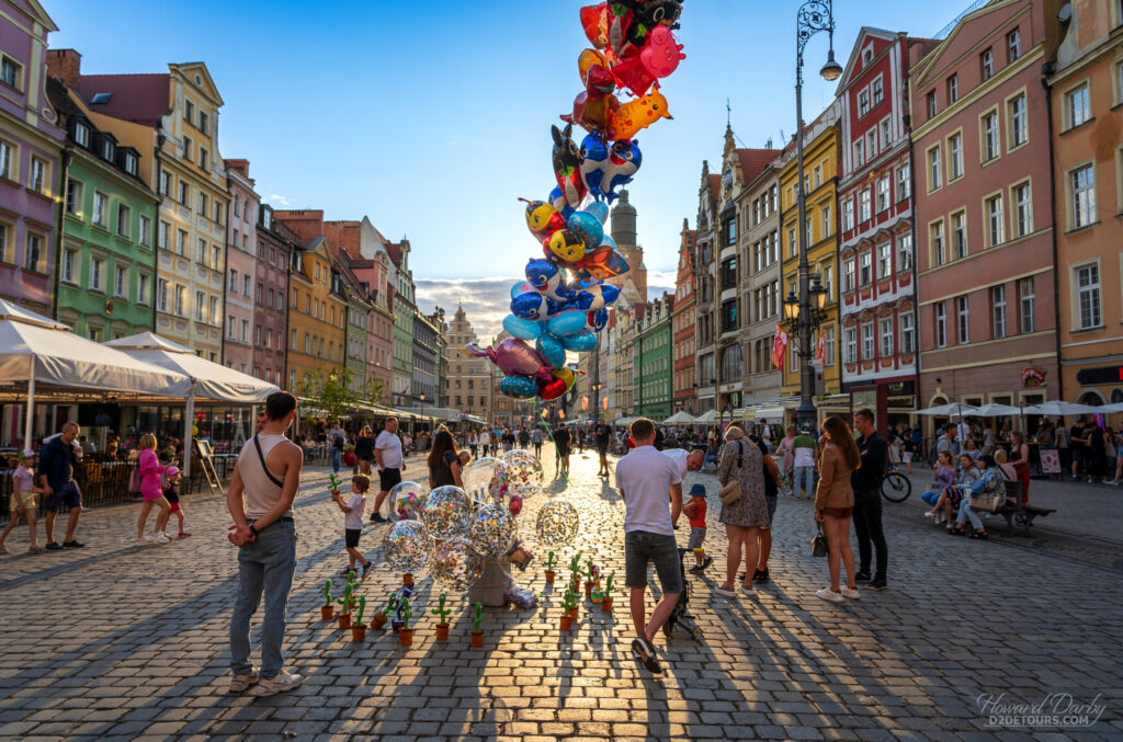
[[[275,677],[284,667],[281,644],[295,569],[296,526],[291,521],[265,526],[256,541],[238,549],[238,597],[230,616],[230,669],[236,675],[254,669],[249,662],[249,620],[257,611],[263,588],[262,677]]]

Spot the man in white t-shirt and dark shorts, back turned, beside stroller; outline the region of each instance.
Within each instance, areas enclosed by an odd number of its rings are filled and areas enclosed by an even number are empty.
[[[617,464],[617,488],[624,501],[624,571],[631,588],[631,615],[636,625],[632,654],[651,672],[663,672],[651,640],[670,617],[683,592],[675,523],[683,511],[683,477],[678,465],[655,449],[655,423],[640,418],[631,424],[636,448]],[[667,492],[670,506],[667,506]],[[645,626],[643,593],[647,566],[655,564],[663,598]]]

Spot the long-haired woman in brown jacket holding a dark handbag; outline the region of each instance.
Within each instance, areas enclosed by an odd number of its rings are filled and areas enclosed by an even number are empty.
[[[815,522],[820,534],[827,538],[827,568],[830,571],[830,587],[815,595],[831,603],[841,603],[843,597],[857,601],[858,584],[855,581],[853,551],[850,549],[850,519],[853,515],[853,488],[850,473],[861,466],[858,445],[850,432],[850,425],[841,418],[828,418],[823,422],[823,437],[819,439],[819,488],[815,491]],[[846,564],[847,586],[839,587],[839,561]]]

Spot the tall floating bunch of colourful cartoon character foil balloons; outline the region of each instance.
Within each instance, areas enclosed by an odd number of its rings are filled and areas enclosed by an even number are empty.
[[[617,189],[631,182],[643,161],[636,135],[672,118],[658,81],[685,58],[672,34],[682,6],[683,0],[612,0],[581,9],[594,48],[577,58],[584,90],[572,113],[562,117],[565,128],[551,127],[557,185],[546,201],[523,199],[527,228],[544,255],[527,264],[526,282],[511,288],[503,329],[512,337],[494,348],[467,347],[503,372],[500,392],[506,396],[560,397],[576,382],[566,351],[592,350],[608,324],[608,308],[620,290],[604,282],[629,265],[604,222]],[[620,91],[634,98],[621,103]],[[579,147],[574,125],[587,132]]]

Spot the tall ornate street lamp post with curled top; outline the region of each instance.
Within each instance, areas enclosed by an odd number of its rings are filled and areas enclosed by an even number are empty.
[[[803,48],[812,36],[819,31],[827,31],[830,37],[830,52],[827,56],[827,64],[823,65],[819,74],[828,81],[838,80],[842,74],[842,67],[834,61],[834,13],[831,2],[832,0],[807,0],[800,6],[795,24],[795,157],[797,178],[795,192],[798,204],[796,232],[800,241],[800,312],[795,328],[800,338],[800,357],[803,360],[803,366],[800,368],[800,407],[796,410],[796,419],[801,427],[812,428],[815,424],[815,403],[812,401],[815,392],[815,369],[811,365],[811,332],[814,326],[811,304],[811,266],[807,264],[807,230],[805,228],[807,194],[803,177]]]

